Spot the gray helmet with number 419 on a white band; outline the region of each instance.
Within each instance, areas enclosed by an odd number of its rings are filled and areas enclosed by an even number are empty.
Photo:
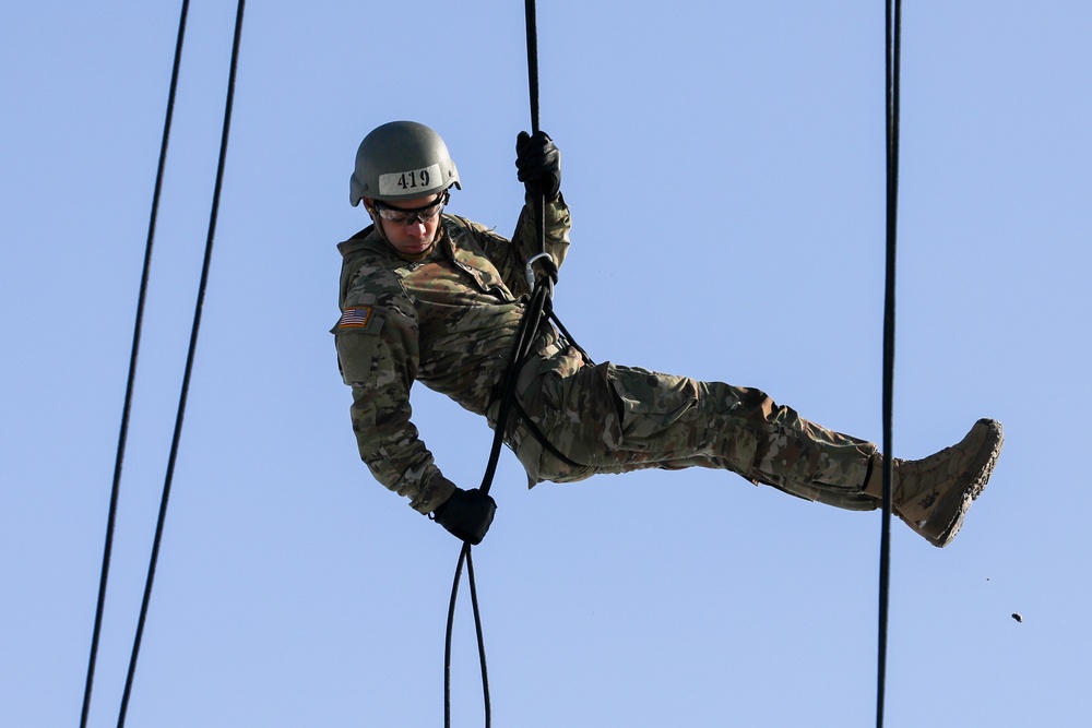
[[[459,184],[459,170],[440,135],[416,121],[391,121],[360,142],[348,201],[410,200]]]

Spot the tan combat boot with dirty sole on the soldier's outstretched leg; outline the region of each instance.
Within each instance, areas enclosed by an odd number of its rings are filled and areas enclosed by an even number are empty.
[[[1000,422],[980,419],[951,447],[919,461],[894,458],[894,513],[934,546],[948,546],[963,525],[971,501],[986,487],[1004,442]],[[865,492],[880,499],[882,458],[874,457]]]

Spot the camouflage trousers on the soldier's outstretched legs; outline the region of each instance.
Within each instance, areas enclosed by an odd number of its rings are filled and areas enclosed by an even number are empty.
[[[809,422],[755,389],[584,365],[570,350],[533,359],[518,397],[508,440],[532,485],[709,467],[839,508],[877,506],[862,492],[874,444]]]

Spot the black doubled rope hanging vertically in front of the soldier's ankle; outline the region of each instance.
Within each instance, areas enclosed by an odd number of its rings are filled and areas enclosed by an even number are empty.
[[[883,517],[880,535],[879,640],[877,651],[876,726],[883,727],[887,682],[888,607],[891,586],[891,510],[894,463],[891,458],[894,402],[895,232],[899,208],[899,76],[902,46],[902,2],[888,0],[887,67],[887,271],[883,295]]]

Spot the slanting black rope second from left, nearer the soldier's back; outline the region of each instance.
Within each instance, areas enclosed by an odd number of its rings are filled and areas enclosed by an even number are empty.
[[[124,694],[118,715],[118,728],[126,723],[126,712],[132,694],[133,677],[136,672],[136,657],[140,654],[141,637],[147,620],[147,608],[152,598],[152,583],[155,580],[155,565],[159,556],[159,545],[163,540],[163,527],[167,516],[167,502],[170,498],[170,485],[174,479],[175,463],[178,458],[178,445],[181,440],[182,420],[186,414],[186,398],[189,394],[190,378],[193,371],[193,359],[197,353],[198,333],[201,329],[201,310],[204,306],[205,288],[209,283],[209,268],[212,263],[213,239],[216,232],[216,217],[219,213],[219,194],[224,183],[224,167],[227,159],[227,140],[232,128],[232,107],[235,102],[235,76],[239,64],[239,41],[242,36],[242,12],[246,2],[239,0],[235,15],[235,38],[232,44],[232,65],[227,81],[227,100],[224,108],[224,128],[219,141],[219,162],[216,168],[216,183],[213,191],[212,211],[209,215],[209,235],[205,238],[204,262],[201,267],[201,283],[198,287],[197,306],[193,311],[193,327],[190,332],[190,346],[186,356],[186,371],[182,375],[182,387],[178,401],[178,413],[175,417],[175,433],[170,442],[170,456],[167,460],[167,474],[163,484],[163,496],[159,501],[159,516],[155,525],[155,538],[152,542],[152,557],[147,566],[147,580],[144,584],[144,598],[141,602],[140,619],[136,623],[136,635],[133,640],[132,655],[129,660],[129,673],[126,677]]]

